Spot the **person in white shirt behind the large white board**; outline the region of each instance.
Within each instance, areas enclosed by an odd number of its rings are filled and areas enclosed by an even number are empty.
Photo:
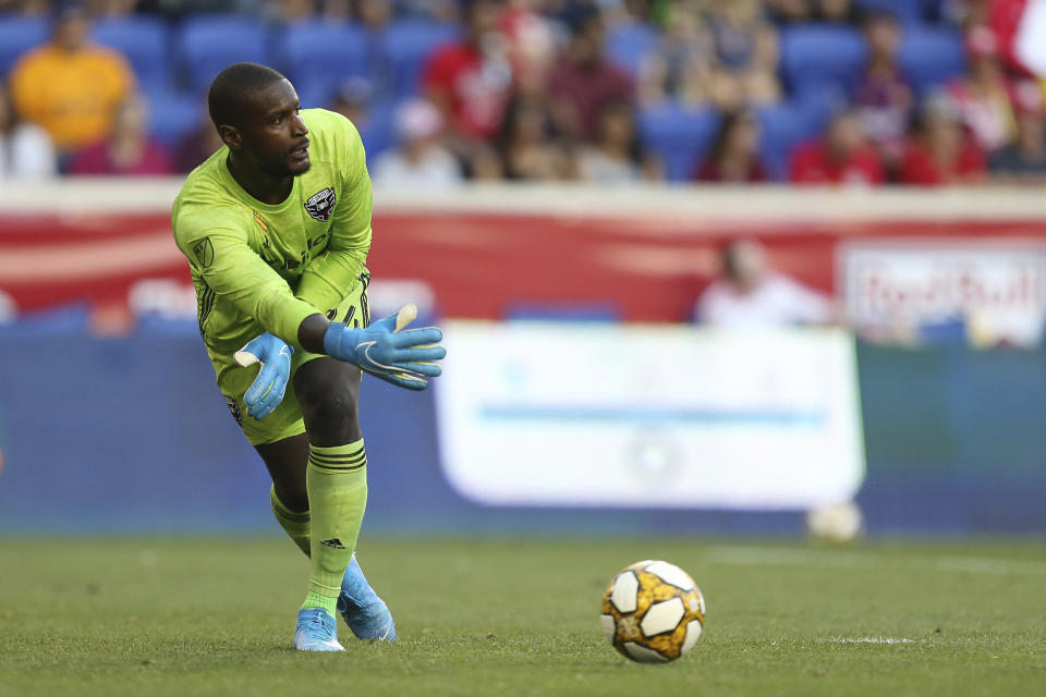
[[[827,325],[836,319],[830,299],[775,272],[758,242],[722,249],[722,276],[697,301],[696,319],[720,327]]]

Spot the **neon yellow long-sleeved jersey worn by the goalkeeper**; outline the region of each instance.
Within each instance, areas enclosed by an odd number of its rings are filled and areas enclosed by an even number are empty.
[[[312,167],[283,203],[246,193],[229,173],[227,147],[193,170],[174,200],[174,241],[192,268],[212,360],[266,330],[301,348],[302,320],[337,307],[361,282],[372,211],[363,143],[340,114],[301,114]]]

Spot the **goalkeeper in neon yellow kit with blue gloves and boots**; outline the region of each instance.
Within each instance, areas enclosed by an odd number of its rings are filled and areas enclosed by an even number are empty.
[[[360,638],[394,639],[353,554],[367,500],[361,369],[423,390],[441,333],[405,329],[411,305],[370,323],[370,180],[348,119],[300,110],[291,83],[254,63],[222,71],[208,108],[224,146],[188,175],[171,220],[218,386],[272,477],[276,519],[311,558],[294,646],[344,650],[336,612]]]

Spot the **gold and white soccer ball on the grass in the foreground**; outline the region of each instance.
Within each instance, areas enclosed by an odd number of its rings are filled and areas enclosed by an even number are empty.
[[[701,637],[705,598],[674,564],[646,560],[627,566],[603,595],[603,632],[641,663],[673,661]]]

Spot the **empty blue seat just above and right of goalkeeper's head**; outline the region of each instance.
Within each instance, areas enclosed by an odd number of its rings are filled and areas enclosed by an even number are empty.
[[[283,32],[277,54],[291,82],[336,84],[349,75],[366,75],[367,50],[358,26],[304,22]]]

